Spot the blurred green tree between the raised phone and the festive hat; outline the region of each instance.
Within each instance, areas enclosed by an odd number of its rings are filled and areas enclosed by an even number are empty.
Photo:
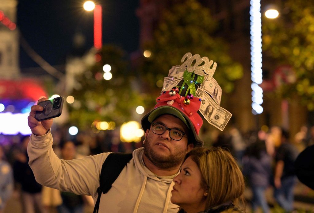
[[[92,122],[114,121],[116,125],[132,119],[136,106],[142,104],[133,84],[134,76],[128,69],[125,53],[111,45],[99,52],[101,61],[77,76],[77,89],[72,95],[80,106],[70,105],[70,121],[80,128],[90,127]],[[103,79],[102,67],[111,65],[112,79]],[[98,77],[97,77],[98,76]]]

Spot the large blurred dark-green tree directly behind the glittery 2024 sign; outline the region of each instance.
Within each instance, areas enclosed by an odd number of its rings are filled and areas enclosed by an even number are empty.
[[[167,77],[169,69],[181,65],[182,56],[191,52],[192,55],[206,56],[216,62],[214,78],[224,93],[231,92],[233,81],[242,77],[243,69],[239,63],[232,61],[226,42],[214,36],[216,29],[217,23],[211,17],[209,8],[195,0],[166,8],[153,41],[144,45],[144,49],[153,53],[152,57],[145,59],[142,67],[149,85],[155,85],[157,80]]]

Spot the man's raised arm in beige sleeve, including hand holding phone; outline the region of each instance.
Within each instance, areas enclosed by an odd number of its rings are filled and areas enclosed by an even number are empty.
[[[44,101],[45,98],[39,100]],[[28,123],[32,134],[27,152],[30,158],[29,165],[36,181],[42,185],[56,188],[61,191],[70,191],[76,194],[87,194],[95,197],[99,186],[99,177],[102,163],[109,153],[96,156],[87,156],[71,161],[60,160],[52,150],[53,139],[49,132],[52,119],[37,121],[36,111],[42,107],[31,107]]]

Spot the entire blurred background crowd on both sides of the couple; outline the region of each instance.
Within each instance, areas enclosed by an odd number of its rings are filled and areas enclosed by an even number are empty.
[[[122,143],[118,130],[98,134],[82,132],[66,136],[62,128],[54,132],[54,151],[61,159],[81,158],[102,152],[132,152],[142,143]],[[9,198],[20,200],[21,212],[92,212],[93,199],[42,187],[28,165],[29,135],[0,135],[0,213]],[[303,126],[295,135],[273,126],[258,132],[241,133],[236,127],[217,134],[212,146],[225,147],[237,159],[252,191],[251,207],[270,212],[265,191],[273,188],[273,198],[285,211],[294,210],[294,186],[297,178],[294,161],[307,146],[314,144],[314,126]]]

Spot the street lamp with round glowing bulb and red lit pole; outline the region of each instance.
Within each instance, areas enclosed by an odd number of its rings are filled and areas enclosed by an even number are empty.
[[[102,7],[92,1],[85,2],[83,7],[87,11],[94,10],[94,47],[99,50],[102,47]]]

